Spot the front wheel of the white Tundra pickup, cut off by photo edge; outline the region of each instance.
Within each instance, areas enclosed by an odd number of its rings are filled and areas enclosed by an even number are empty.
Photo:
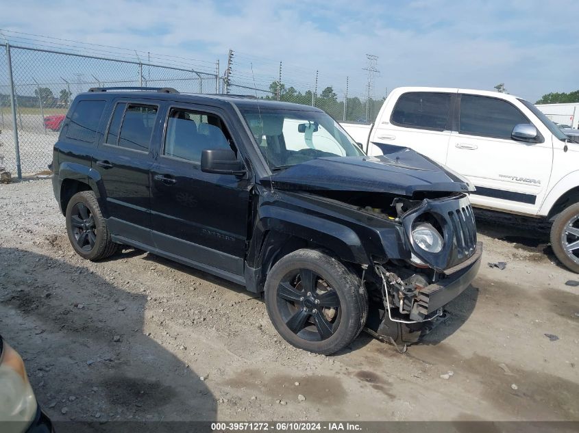
[[[567,207],[555,218],[551,247],[563,265],[579,274],[579,203]]]

